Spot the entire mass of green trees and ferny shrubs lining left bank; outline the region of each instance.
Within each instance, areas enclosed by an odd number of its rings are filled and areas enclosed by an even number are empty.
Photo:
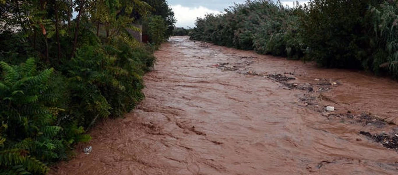
[[[76,10],[76,18],[72,12]],[[168,24],[139,0],[0,1],[0,175],[45,174],[144,98]],[[139,43],[130,14],[155,24]]]

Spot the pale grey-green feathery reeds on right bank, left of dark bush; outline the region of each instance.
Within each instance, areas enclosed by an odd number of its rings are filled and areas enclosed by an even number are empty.
[[[298,34],[298,15],[302,12],[301,6],[286,8],[280,2],[248,1],[226,9],[224,14],[198,18],[190,36],[227,47],[298,59],[306,48]]]

